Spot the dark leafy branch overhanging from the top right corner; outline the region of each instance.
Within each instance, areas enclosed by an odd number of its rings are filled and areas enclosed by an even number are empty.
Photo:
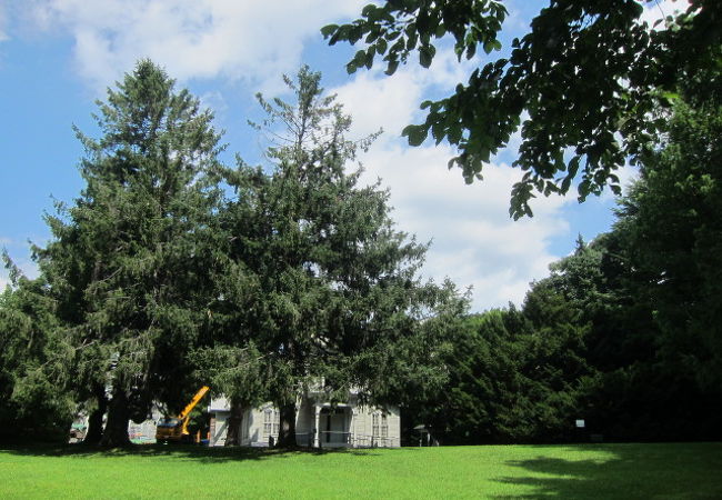
[[[575,181],[580,201],[608,186],[619,193],[614,172],[650,151],[680,82],[720,63],[710,57],[720,44],[719,1],[692,0],[685,13],[668,17],[663,30],[642,22],[643,10],[634,0],[551,0],[508,57],[473,70],[448,98],[421,103],[425,121],[403,136],[411,146],[429,134],[454,146],[449,168],[461,168],[471,183],[520,132],[514,219],[532,214],[535,193],[563,194]],[[347,64],[349,72],[370,69],[379,58],[391,76],[413,53],[429,68],[449,36],[459,61],[478,49],[501,50],[507,16],[501,0],[389,0],[321,32],[330,44],[365,46]]]

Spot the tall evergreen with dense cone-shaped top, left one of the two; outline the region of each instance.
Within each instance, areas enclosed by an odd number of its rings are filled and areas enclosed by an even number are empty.
[[[101,137],[78,131],[86,188],[48,218],[54,239],[39,259],[72,328],[79,383],[110,398],[102,443],[122,446],[128,419],[144,419],[153,398],[172,402],[188,377],[184,352],[207,301],[219,134],[150,61],[98,104]]]

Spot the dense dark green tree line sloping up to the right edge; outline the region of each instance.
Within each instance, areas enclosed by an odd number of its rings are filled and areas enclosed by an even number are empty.
[[[413,411],[447,443],[722,438],[722,107],[679,102],[616,222],[520,309],[469,317],[448,389]]]

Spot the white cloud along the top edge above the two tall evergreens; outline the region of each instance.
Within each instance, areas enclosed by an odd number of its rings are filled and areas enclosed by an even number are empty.
[[[104,88],[151,58],[180,80],[224,77],[264,87],[298,67],[303,41],[363,0],[37,0],[36,21],[74,38],[79,72]]]

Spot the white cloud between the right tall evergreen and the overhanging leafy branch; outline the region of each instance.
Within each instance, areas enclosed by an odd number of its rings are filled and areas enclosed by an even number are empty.
[[[467,186],[459,169],[449,171],[454,154],[445,144],[408,148],[400,130],[419,117],[421,97],[431,86],[455,82],[457,76],[440,64],[433,71],[403,68],[392,78],[378,71],[361,73],[335,89],[354,118],[354,132],[367,134],[383,127],[384,133],[361,160],[365,181],[382,179],[391,189],[393,219],[399,229],[433,240],[423,274],[459,287],[472,286],[473,308],[520,303],[529,282],[548,274],[551,239],[566,233],[561,209],[570,199],[534,200],[534,218],[513,221],[509,199],[519,170],[507,164],[484,169],[484,180]],[[455,70],[453,70],[455,71]]]

